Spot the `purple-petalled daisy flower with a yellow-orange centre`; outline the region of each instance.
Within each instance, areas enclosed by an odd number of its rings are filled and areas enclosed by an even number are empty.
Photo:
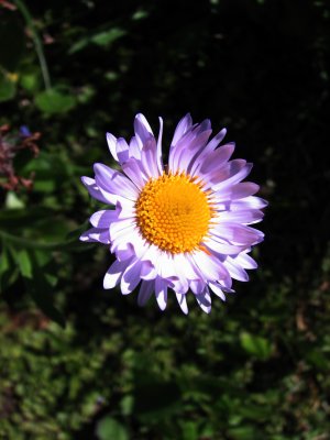
[[[157,139],[143,114],[134,132],[130,143],[107,134],[122,172],[97,163],[95,178],[82,177],[90,196],[110,209],[90,217],[92,228],[80,240],[106,244],[116,255],[106,289],[120,285],[128,295],[140,285],[139,305],[154,294],[162,310],[174,292],[185,314],[189,294],[209,312],[213,294],[226,300],[232,278],[246,282],[245,270],[256,267],[249,252],[264,234],[249,224],[262,220],[266,201],[254,196],[256,184],[242,183],[252,164],[230,161],[234,144],[219,146],[226,129],[210,139],[210,121],[193,124],[190,114],[175,130],[168,165],[162,118]]]

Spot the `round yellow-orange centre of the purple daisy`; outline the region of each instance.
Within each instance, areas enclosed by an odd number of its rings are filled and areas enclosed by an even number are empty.
[[[186,174],[150,179],[135,205],[136,222],[150,243],[173,254],[202,249],[212,206],[202,184]]]

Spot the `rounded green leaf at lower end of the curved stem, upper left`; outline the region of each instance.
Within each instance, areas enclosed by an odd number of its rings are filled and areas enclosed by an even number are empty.
[[[38,94],[35,105],[47,114],[65,113],[76,106],[76,99],[54,88]]]

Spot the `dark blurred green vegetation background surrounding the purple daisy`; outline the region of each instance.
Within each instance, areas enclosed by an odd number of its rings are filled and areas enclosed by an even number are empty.
[[[329,20],[320,0],[0,1],[0,439],[330,439]],[[112,257],[78,241],[100,206],[79,177],[139,111],[164,145],[187,111],[227,127],[270,200],[260,268],[210,316],[102,290]]]

